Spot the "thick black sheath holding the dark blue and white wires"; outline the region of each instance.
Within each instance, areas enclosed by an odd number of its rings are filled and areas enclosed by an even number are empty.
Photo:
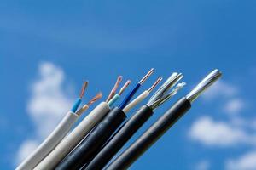
[[[125,113],[121,109],[118,107],[113,108],[102,119],[102,122],[55,169],[75,170],[83,167],[87,161],[90,161],[92,156],[96,156],[102,145],[108,141],[108,138],[124,122],[125,118]]]

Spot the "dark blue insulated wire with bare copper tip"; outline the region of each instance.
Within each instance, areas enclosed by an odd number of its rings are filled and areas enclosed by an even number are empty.
[[[140,80],[140,82],[137,83],[137,85],[135,86],[135,88],[131,89],[131,92],[125,96],[125,99],[123,100],[123,102],[119,105],[120,109],[124,109],[125,106],[130,102],[131,98],[134,96],[134,94],[136,94],[137,90],[142,86],[143,82],[145,82],[148,77],[154,72],[154,69],[150,69],[150,71],[148,71],[148,73]]]

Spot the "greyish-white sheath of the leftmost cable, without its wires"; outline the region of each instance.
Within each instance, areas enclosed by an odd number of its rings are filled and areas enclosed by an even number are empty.
[[[58,126],[55,127],[55,130],[49,134],[44,142],[40,144],[25,161],[21,162],[20,166],[17,167],[16,170],[31,170],[33,167],[36,167],[38,163],[61,142],[61,139],[66,136],[70,128],[73,126],[73,123],[76,122],[78,118],[78,115],[72,111],[68,111]]]

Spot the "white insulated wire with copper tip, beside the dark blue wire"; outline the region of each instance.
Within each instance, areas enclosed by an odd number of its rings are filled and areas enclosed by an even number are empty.
[[[123,111],[125,113],[127,113],[128,111],[130,111],[133,107],[135,107],[137,104],[141,103],[143,101],[143,99],[146,99],[148,97],[148,95],[150,94],[150,92],[156,87],[156,85],[162,80],[162,77],[159,77],[156,82],[154,82],[154,84],[148,88],[148,90],[145,90],[142,94],[140,94],[139,96],[137,96],[136,99],[133,99],[128,105],[125,106],[125,108],[123,109]]]

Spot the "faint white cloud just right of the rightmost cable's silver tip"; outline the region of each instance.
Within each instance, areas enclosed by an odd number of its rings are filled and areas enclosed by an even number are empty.
[[[202,97],[204,99],[216,99],[218,97],[233,97],[238,93],[238,88],[228,82],[219,80],[209,88]]]

